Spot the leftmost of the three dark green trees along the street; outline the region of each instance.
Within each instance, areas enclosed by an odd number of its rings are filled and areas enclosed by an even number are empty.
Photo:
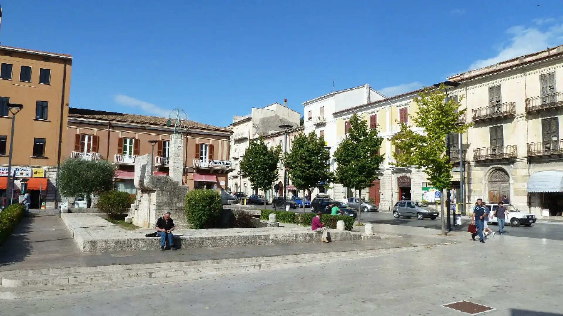
[[[282,146],[269,148],[264,138],[253,139],[240,161],[240,170],[250,179],[253,188],[264,192],[274,186],[279,177],[279,162]],[[266,207],[266,198],[264,198]]]

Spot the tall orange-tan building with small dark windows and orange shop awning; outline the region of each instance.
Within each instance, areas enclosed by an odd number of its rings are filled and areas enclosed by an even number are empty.
[[[16,201],[22,182],[32,198],[55,207],[57,170],[66,146],[72,56],[0,46],[0,203],[7,192],[12,112],[8,103],[23,105],[15,116],[12,170]],[[23,180],[23,181],[22,181]]]

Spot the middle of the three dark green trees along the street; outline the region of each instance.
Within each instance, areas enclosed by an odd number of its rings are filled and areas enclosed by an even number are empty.
[[[332,182],[329,160],[330,152],[325,148],[323,136],[317,137],[315,132],[309,133],[309,136],[300,133],[293,138],[291,151],[284,157],[284,166],[289,169],[289,179],[293,186],[305,193],[305,190],[314,188],[319,183]]]

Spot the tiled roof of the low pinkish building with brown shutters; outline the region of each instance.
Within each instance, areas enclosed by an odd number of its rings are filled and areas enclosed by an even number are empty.
[[[87,120],[102,120],[111,122],[123,122],[153,126],[166,126],[167,118],[159,118],[158,116],[147,116],[137,114],[126,114],[118,112],[106,112],[88,109],[77,109],[74,107],[69,108],[69,118],[74,119],[87,119]],[[216,127],[213,125],[202,124],[194,121],[184,121],[187,128],[214,130],[217,132],[232,133],[230,129],[224,127]]]

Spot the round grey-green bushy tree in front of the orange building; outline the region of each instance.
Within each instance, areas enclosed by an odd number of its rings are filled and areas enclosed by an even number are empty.
[[[86,197],[113,189],[115,168],[107,160],[66,159],[59,172],[59,191],[67,197]]]

